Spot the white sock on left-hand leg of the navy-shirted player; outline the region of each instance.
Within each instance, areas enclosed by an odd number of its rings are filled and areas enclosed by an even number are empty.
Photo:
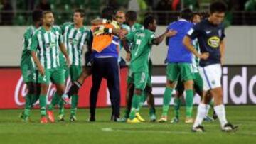
[[[197,126],[201,125],[203,118],[205,116],[206,116],[206,104],[199,104],[198,111],[196,114],[196,121],[193,124],[193,128],[196,128]]]

